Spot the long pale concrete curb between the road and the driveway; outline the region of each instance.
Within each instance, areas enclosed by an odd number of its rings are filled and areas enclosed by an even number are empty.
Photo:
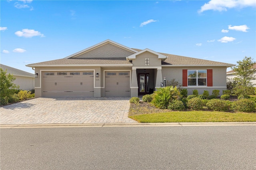
[[[256,122],[25,124],[25,125],[0,125],[0,128],[190,127],[190,126],[256,126]]]

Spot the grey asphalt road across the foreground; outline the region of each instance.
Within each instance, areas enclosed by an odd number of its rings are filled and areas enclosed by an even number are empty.
[[[0,129],[1,170],[256,169],[256,127]]]

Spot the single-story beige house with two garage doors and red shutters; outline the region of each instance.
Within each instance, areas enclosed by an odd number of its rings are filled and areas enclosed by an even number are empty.
[[[228,63],[134,49],[105,40],[63,59],[26,65],[38,75],[36,97],[128,96],[152,93],[176,79],[191,94],[226,89]]]

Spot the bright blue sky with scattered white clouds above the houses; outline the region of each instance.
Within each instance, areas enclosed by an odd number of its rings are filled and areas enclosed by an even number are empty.
[[[0,10],[0,62],[30,73],[27,64],[107,39],[232,64],[256,60],[255,0],[1,0]]]

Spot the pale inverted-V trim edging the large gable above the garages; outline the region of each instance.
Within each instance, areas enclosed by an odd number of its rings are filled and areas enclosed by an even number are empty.
[[[93,45],[93,46],[91,46],[91,47],[88,47],[88,48],[86,48],[86,49],[84,49],[84,50],[82,50],[82,51],[78,51],[77,53],[74,53],[74,54],[72,54],[72,55],[69,55],[68,57],[65,57],[65,58],[67,59],[67,58],[77,57],[78,55],[84,54],[84,53],[86,53],[86,52],[88,52],[88,51],[91,51],[91,50],[93,50],[93,49],[96,49],[96,48],[98,48],[98,47],[101,47],[101,46],[103,46],[103,45],[106,45],[107,43],[110,43],[110,44],[115,45],[115,46],[117,46],[117,47],[119,47],[119,48],[125,49],[125,50],[127,50],[127,51],[132,52],[132,53],[137,53],[137,52],[138,52],[138,51],[136,51],[135,49],[126,47],[126,46],[124,46],[124,45],[122,45],[122,44],[120,44],[120,43],[114,42],[114,41],[112,41],[112,40],[105,40],[105,41],[103,41],[103,42],[97,43],[96,45]]]

